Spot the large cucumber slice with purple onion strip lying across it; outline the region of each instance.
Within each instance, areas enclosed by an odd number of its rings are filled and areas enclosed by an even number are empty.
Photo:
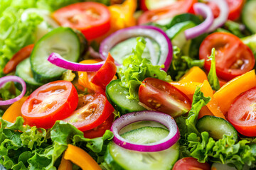
[[[65,71],[47,61],[52,52],[59,53],[71,62],[78,62],[80,41],[71,28],[55,28],[36,43],[31,53],[31,69],[36,81],[41,83],[54,81]]]

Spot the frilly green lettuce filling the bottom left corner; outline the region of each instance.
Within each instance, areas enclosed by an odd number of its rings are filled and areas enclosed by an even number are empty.
[[[85,149],[96,161],[102,162],[112,132],[103,137],[87,139],[73,125],[57,121],[53,128],[23,127],[23,118],[15,123],[1,119],[0,164],[6,169],[56,169],[68,144]]]

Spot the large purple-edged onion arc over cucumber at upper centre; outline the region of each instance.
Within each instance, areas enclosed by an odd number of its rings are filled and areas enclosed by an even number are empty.
[[[110,52],[111,48],[114,47],[114,45],[117,45],[117,43],[123,40],[127,40],[128,38],[134,38],[139,36],[151,38],[160,45],[161,56],[159,62],[156,64],[164,64],[163,70],[167,71],[171,64],[171,59],[173,55],[171,41],[163,30],[155,26],[133,26],[129,28],[124,28],[122,30],[117,30],[117,32],[107,37],[100,44],[100,55],[102,57],[102,60],[106,60],[108,52]],[[156,56],[151,56],[151,58],[153,57]]]

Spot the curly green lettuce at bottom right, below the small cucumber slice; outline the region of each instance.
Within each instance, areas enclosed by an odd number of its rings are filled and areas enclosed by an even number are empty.
[[[243,166],[252,166],[255,163],[256,145],[248,145],[247,140],[240,140],[235,143],[233,136],[223,135],[223,139],[213,140],[208,132],[202,132],[201,137],[195,133],[188,135],[188,148],[191,157],[198,159],[198,162],[219,162],[230,164],[240,170]]]

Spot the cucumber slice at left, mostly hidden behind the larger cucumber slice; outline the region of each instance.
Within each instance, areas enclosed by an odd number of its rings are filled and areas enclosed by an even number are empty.
[[[33,91],[43,84],[38,83],[34,78],[31,71],[31,63],[29,58],[20,62],[16,67],[16,75],[21,77],[26,82],[27,91]],[[19,90],[22,89],[21,84],[15,84]]]

